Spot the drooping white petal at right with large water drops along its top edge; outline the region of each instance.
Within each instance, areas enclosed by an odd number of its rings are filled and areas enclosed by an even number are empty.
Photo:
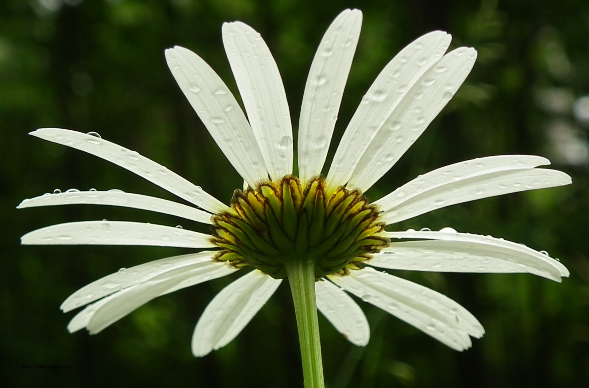
[[[451,228],[441,231],[388,232],[390,238],[425,238],[441,241],[391,243],[368,263],[377,267],[418,271],[531,273],[554,281],[568,277],[560,261],[522,244],[502,238],[457,233]],[[396,258],[396,256],[399,256]],[[405,263],[405,264],[403,264]],[[406,268],[401,268],[408,266]]]

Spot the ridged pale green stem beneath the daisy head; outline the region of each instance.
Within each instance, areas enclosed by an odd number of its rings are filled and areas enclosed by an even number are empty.
[[[305,388],[324,388],[319,323],[315,301],[315,263],[289,260],[284,264],[293,295],[294,313],[299,329],[300,355]]]

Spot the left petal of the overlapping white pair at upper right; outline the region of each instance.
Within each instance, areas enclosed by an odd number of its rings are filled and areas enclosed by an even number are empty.
[[[362,98],[337,147],[327,185],[345,185],[376,132],[418,78],[437,62],[450,44],[451,36],[429,32],[403,48],[376,77]]]

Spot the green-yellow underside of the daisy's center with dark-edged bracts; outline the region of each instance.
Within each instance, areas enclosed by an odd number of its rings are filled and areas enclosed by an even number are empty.
[[[215,260],[274,278],[286,278],[284,264],[292,260],[312,260],[316,277],[357,268],[389,244],[378,208],[358,190],[326,193],[323,178],[302,187],[299,178],[286,175],[236,190],[231,211],[211,220],[212,241],[223,248]]]

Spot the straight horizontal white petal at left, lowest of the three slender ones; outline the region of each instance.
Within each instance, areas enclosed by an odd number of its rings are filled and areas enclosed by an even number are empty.
[[[128,221],[80,221],[34,230],[21,237],[21,244],[216,247],[209,240],[208,234],[164,225]]]

